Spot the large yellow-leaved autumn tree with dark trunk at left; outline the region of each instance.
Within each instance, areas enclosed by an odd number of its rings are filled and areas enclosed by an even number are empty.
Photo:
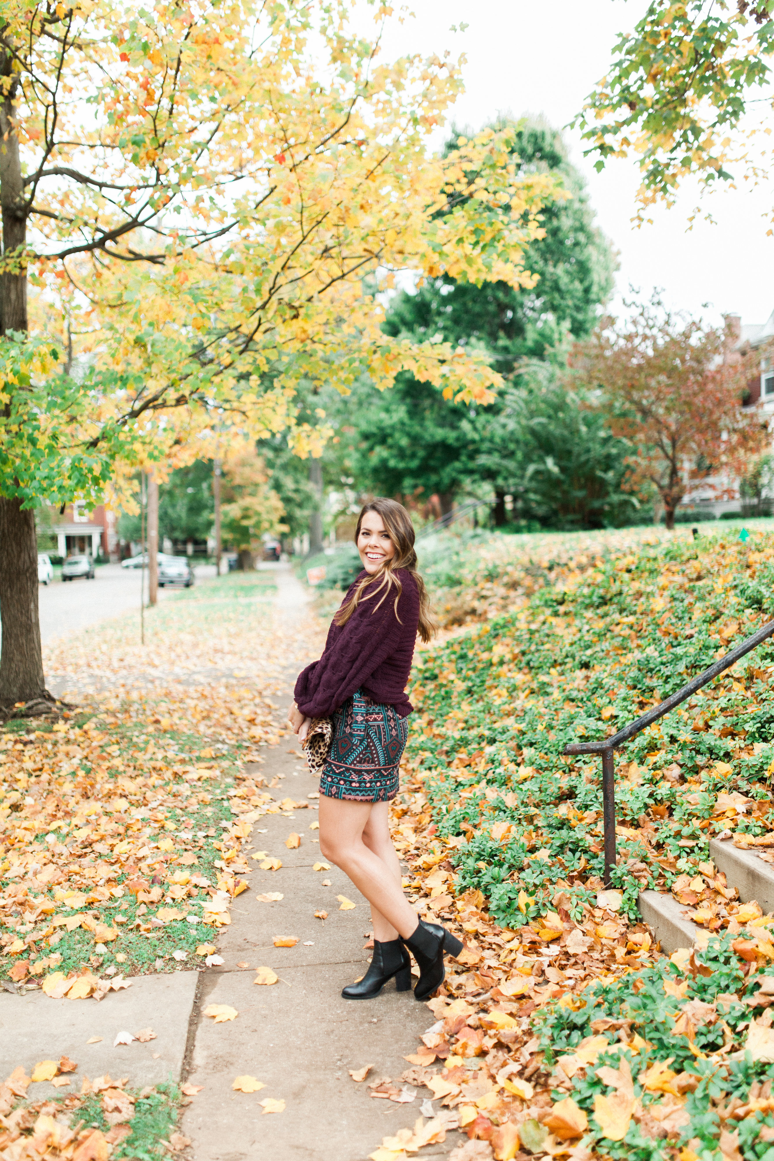
[[[507,131],[431,156],[458,70],[382,62],[372,7],[369,42],[346,0],[2,5],[1,706],[48,697],[36,505],[96,498],[118,456],[207,456],[214,427],[306,454],[299,382],[491,398],[483,355],[384,336],[364,280],[529,282],[555,182]]]

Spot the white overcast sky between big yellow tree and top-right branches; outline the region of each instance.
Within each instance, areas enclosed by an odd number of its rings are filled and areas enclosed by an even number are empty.
[[[396,5],[396,9],[398,5]],[[562,127],[580,109],[585,95],[610,60],[616,33],[634,27],[643,0],[413,0],[415,19],[388,22],[388,58],[404,52],[468,56],[465,93],[455,120],[479,128],[498,111],[544,114]],[[451,24],[468,23],[464,33]],[[755,190],[724,190],[702,201],[717,224],[699,222],[686,232],[697,204],[696,187],[686,188],[671,210],[656,209],[654,224],[636,229],[637,170],[612,161],[598,174],[583,157],[579,134],[567,134],[571,158],[586,175],[599,225],[620,255],[616,294],[629,284],[650,295],[663,288],[670,307],[712,322],[724,312],[745,323],[762,323],[774,310],[774,238],[767,217],[774,183]],[[708,303],[707,309],[703,304]],[[615,303],[614,303],[615,307]]]

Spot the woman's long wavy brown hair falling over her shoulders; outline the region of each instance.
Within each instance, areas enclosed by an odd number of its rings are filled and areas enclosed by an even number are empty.
[[[386,497],[379,496],[369,504],[363,504],[360,515],[357,517],[355,545],[360,538],[360,529],[363,522],[363,517],[367,512],[376,512],[377,515],[382,517],[382,522],[390,533],[390,539],[396,548],[395,556],[392,556],[389,561],[385,561],[378,572],[375,572],[372,576],[363,577],[347,604],[342,605],[341,608],[338,610],[333,620],[337,625],[346,625],[360,605],[361,600],[370,600],[371,597],[377,597],[379,593],[382,593],[382,600],[384,600],[393,585],[397,589],[395,598],[395,615],[398,616],[398,600],[400,599],[400,593],[403,592],[403,585],[400,584],[400,577],[398,576],[397,570],[405,569],[406,572],[411,572],[419,591],[419,635],[422,641],[431,641],[437,633],[437,622],[431,612],[431,601],[427,596],[425,582],[417,571],[414,526],[411,522],[411,517],[406,512],[403,504],[398,504],[397,500],[391,500]],[[374,590],[371,592],[367,592],[371,585],[375,586]],[[382,600],[376,604],[374,611],[379,607]],[[398,618],[398,620],[400,620],[400,618]]]

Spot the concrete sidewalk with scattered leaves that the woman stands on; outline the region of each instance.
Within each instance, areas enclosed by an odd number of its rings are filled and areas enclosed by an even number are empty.
[[[291,620],[306,592],[289,570],[277,582],[276,615]],[[288,704],[291,695],[289,685]],[[392,981],[376,1000],[341,997],[341,988],[368,967],[370,951],[363,944],[371,929],[370,910],[337,867],[312,870],[323,861],[318,831],[310,830],[317,810],[309,795],[317,793],[319,781],[310,776],[295,738],[283,742],[288,744],[263,751],[260,772],[267,781],[280,777],[282,796],[312,808],[295,809],[292,817],[267,815],[253,828],[253,848],[282,859],[282,867],[260,871],[247,859],[256,870],[251,890],[231,908],[231,925],[220,932],[224,964],[203,980],[200,1011],[218,1003],[239,1015],[223,1024],[195,1017],[187,1079],[202,1091],[182,1122],[195,1161],[364,1161],[385,1134],[413,1126],[431,1095],[420,1089],[406,1104],[370,1096],[368,1083],[388,1076],[406,1088],[400,1076],[411,1065],[404,1057],[417,1051],[417,1037],[435,1021],[426,1004],[411,991],[398,994]],[[295,850],[284,845],[291,832],[301,835]],[[331,886],[323,886],[325,880]],[[282,900],[258,899],[269,892],[281,893]],[[356,906],[340,910],[338,895]],[[314,917],[320,910],[327,911],[327,920]],[[275,936],[296,937],[298,943],[275,947]],[[280,982],[254,985],[255,968],[262,966]],[[357,1084],[348,1069],[364,1065],[371,1065],[371,1072]],[[266,1088],[234,1093],[232,1082],[241,1074],[255,1076]],[[265,1097],[284,1101],[284,1111],[265,1115],[259,1103]],[[449,1133],[443,1145],[422,1151],[422,1156],[446,1156],[461,1139],[466,1140]]]

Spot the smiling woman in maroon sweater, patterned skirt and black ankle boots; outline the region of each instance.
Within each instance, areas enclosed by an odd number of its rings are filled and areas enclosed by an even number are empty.
[[[398,767],[412,712],[406,684],[417,630],[429,641],[435,622],[417,571],[414,529],[403,505],[366,504],[355,545],[363,571],[333,618],[325,651],[296,682],[288,714],[301,741],[313,717],[333,719],[333,742],[320,778],[320,854],[349,875],[371,904],[374,957],[347,1000],[377,996],[392,976],[427,1000],[446,975],[444,950],[462,944],[436,923],[418,920],[403,893],[400,864],[389,828],[389,802],[398,793]],[[406,950],[408,949],[408,951]]]

